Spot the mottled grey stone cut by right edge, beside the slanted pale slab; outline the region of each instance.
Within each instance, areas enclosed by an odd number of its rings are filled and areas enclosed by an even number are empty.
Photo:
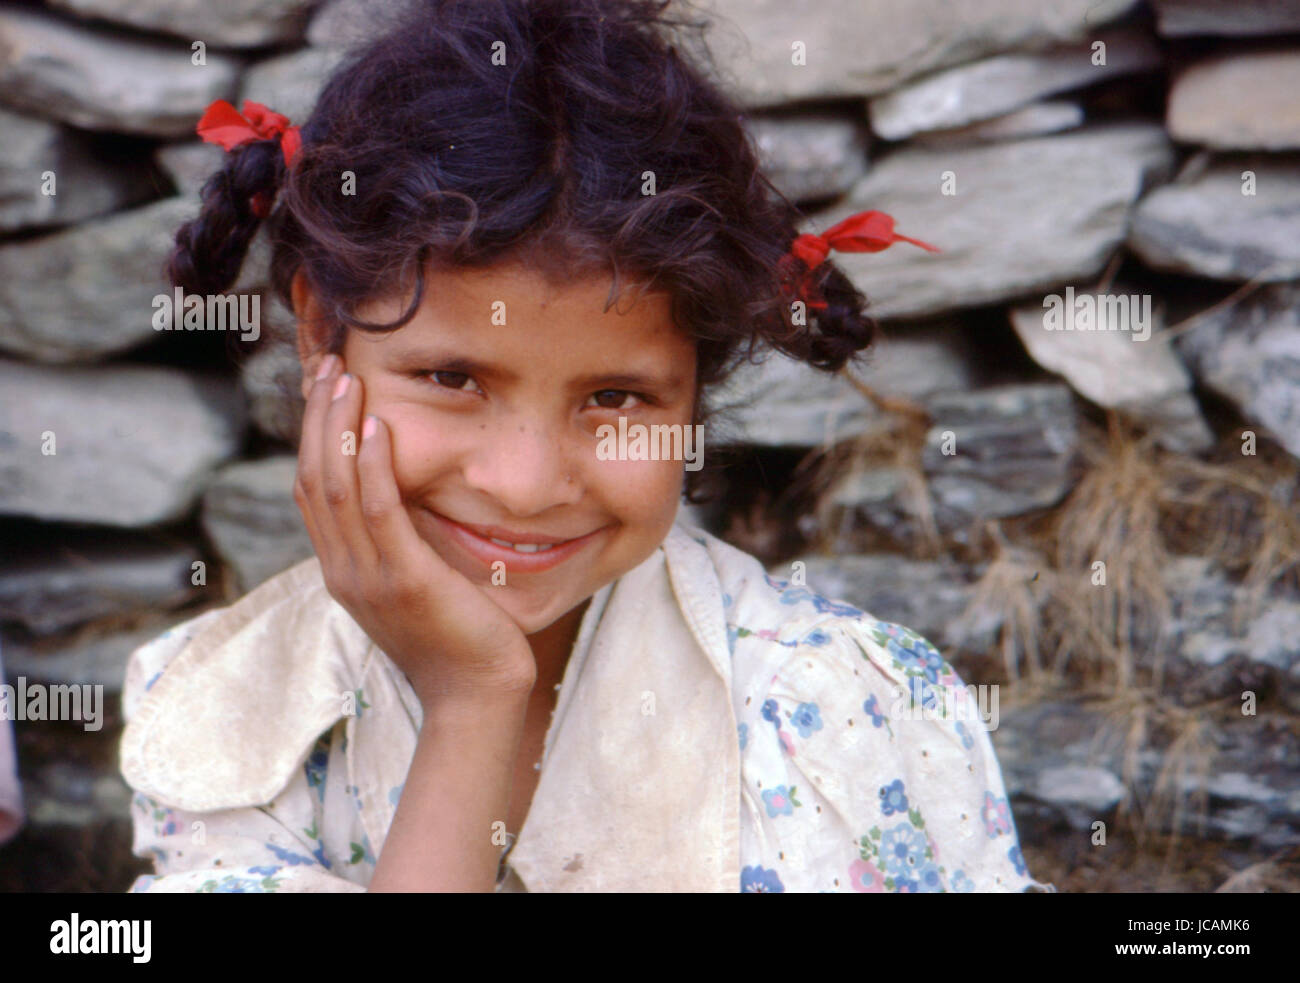
[[[1300,458],[1300,283],[1208,312],[1175,345],[1199,380]]]

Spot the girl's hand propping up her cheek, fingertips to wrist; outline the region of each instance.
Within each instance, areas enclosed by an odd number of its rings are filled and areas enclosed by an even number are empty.
[[[341,358],[326,356],[312,385],[294,482],[330,596],[425,707],[528,693],[537,679],[528,638],[416,533],[393,475],[389,428],[377,417],[363,426],[361,381],[342,371]],[[343,452],[346,430],[355,455]]]

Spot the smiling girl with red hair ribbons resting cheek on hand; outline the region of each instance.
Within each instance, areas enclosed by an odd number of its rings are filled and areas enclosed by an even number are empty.
[[[172,280],[270,224],[316,557],[131,657],[133,891],[1054,889],[933,646],[676,523],[680,452],[608,452],[707,429],[742,350],[842,367],[874,325],[827,252],[904,238],[797,235],[663,7],[425,0],[300,129],[200,122]]]

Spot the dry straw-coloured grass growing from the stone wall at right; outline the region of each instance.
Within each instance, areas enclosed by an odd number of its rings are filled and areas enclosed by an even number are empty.
[[[1205,832],[1218,727],[1240,707],[1232,700],[1184,706],[1166,690],[1173,585],[1165,575],[1171,559],[1196,555],[1239,583],[1238,632],[1275,584],[1290,579],[1300,590],[1300,465],[1268,442],[1253,456],[1234,441],[1208,459],[1173,454],[1108,412],[1105,428],[1082,421],[1082,475],[1060,506],[1030,520],[987,523],[970,546],[945,544],[922,468],[928,416],[845,374],[888,424],[810,463],[820,528],[841,541],[854,532],[852,510],[829,502],[837,481],[881,467],[907,475],[907,507],[920,528],[913,551],[987,560],[949,640],[962,648],[963,638],[992,636],[1013,702],[1066,692],[1102,711],[1108,724],[1095,752],[1121,748],[1126,794],[1117,822],[1128,827],[1138,856],[1162,854],[1152,856],[1157,880],[1176,883],[1175,862],[1186,866],[1199,849],[1187,828]],[[1158,767],[1144,780],[1153,749]]]

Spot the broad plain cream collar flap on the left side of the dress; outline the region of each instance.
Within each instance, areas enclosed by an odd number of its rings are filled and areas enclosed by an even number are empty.
[[[344,715],[373,644],[316,558],[136,649],[122,775],[178,809],[261,805]]]

